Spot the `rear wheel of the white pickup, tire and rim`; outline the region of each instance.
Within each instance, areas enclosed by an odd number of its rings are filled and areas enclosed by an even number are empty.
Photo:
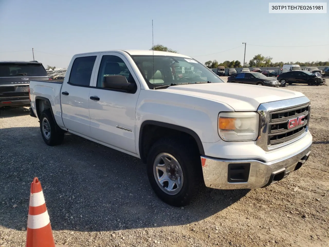
[[[50,109],[41,112],[40,131],[44,142],[49,146],[55,146],[63,142],[64,130],[54,121]]]

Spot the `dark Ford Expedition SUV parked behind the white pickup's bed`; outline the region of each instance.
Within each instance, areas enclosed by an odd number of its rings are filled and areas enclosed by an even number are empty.
[[[30,80],[48,80],[41,63],[0,61],[0,109],[30,106]]]

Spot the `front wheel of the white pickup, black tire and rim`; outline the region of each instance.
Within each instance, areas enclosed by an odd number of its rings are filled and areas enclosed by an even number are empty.
[[[147,156],[147,176],[155,194],[172,206],[186,206],[201,186],[201,161],[193,147],[168,138]]]

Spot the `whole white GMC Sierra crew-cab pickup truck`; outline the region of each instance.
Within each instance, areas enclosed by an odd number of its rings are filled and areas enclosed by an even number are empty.
[[[224,83],[177,53],[78,54],[63,82],[32,80],[29,92],[46,144],[60,144],[68,131],[138,157],[155,193],[173,206],[188,204],[202,185],[265,187],[310,154],[306,96]]]

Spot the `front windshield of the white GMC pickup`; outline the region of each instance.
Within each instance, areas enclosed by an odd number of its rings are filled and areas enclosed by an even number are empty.
[[[194,59],[152,55],[131,57],[150,89],[166,85],[224,82],[213,71]]]

